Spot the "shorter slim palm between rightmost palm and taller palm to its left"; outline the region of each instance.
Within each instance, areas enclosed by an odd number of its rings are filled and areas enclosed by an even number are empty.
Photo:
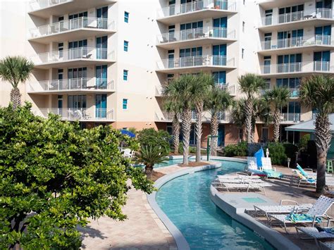
[[[273,105],[273,141],[278,142],[280,139],[280,110],[283,106],[286,106],[290,91],[283,87],[274,87],[266,93],[270,104]]]

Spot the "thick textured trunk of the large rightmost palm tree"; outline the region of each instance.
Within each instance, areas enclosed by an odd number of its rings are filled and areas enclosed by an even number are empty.
[[[315,126],[314,135],[317,151],[316,192],[323,194],[326,192],[326,158],[330,140],[332,139],[328,114],[318,113]]]

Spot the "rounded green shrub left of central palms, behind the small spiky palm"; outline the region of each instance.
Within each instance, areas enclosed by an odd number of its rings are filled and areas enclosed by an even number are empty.
[[[171,136],[165,130],[145,128],[137,133],[137,139],[141,146],[158,146],[167,153],[171,151],[171,146],[169,146]]]

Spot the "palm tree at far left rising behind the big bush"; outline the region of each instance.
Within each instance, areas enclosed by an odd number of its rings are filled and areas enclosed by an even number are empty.
[[[11,102],[14,109],[21,105],[18,84],[29,80],[33,68],[34,63],[23,56],[7,56],[0,61],[0,77],[2,80],[10,82],[13,87],[11,89]]]

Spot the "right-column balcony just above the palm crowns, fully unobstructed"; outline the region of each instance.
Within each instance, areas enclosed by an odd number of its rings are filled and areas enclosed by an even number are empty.
[[[330,62],[310,61],[302,63],[280,63],[276,65],[261,65],[262,75],[306,75],[309,73],[334,73]]]

